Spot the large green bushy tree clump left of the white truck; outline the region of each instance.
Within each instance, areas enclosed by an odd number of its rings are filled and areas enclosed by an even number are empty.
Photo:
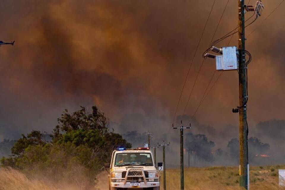
[[[46,136],[39,131],[22,135],[12,147],[13,156],[2,158],[1,164],[33,174],[45,171],[44,175],[55,180],[66,178],[85,183],[86,178],[79,180],[73,174],[81,172],[84,175],[80,176],[88,175],[93,181],[115,148],[131,147],[120,134],[108,128],[107,118],[95,106],[91,113],[85,107],[73,113],[65,110],[50,140]]]

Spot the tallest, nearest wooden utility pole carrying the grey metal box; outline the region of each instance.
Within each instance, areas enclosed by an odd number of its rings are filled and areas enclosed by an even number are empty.
[[[238,0],[238,52],[239,52],[239,139],[240,139],[240,186],[248,189],[248,126],[246,121],[247,68],[245,55],[245,6]]]

